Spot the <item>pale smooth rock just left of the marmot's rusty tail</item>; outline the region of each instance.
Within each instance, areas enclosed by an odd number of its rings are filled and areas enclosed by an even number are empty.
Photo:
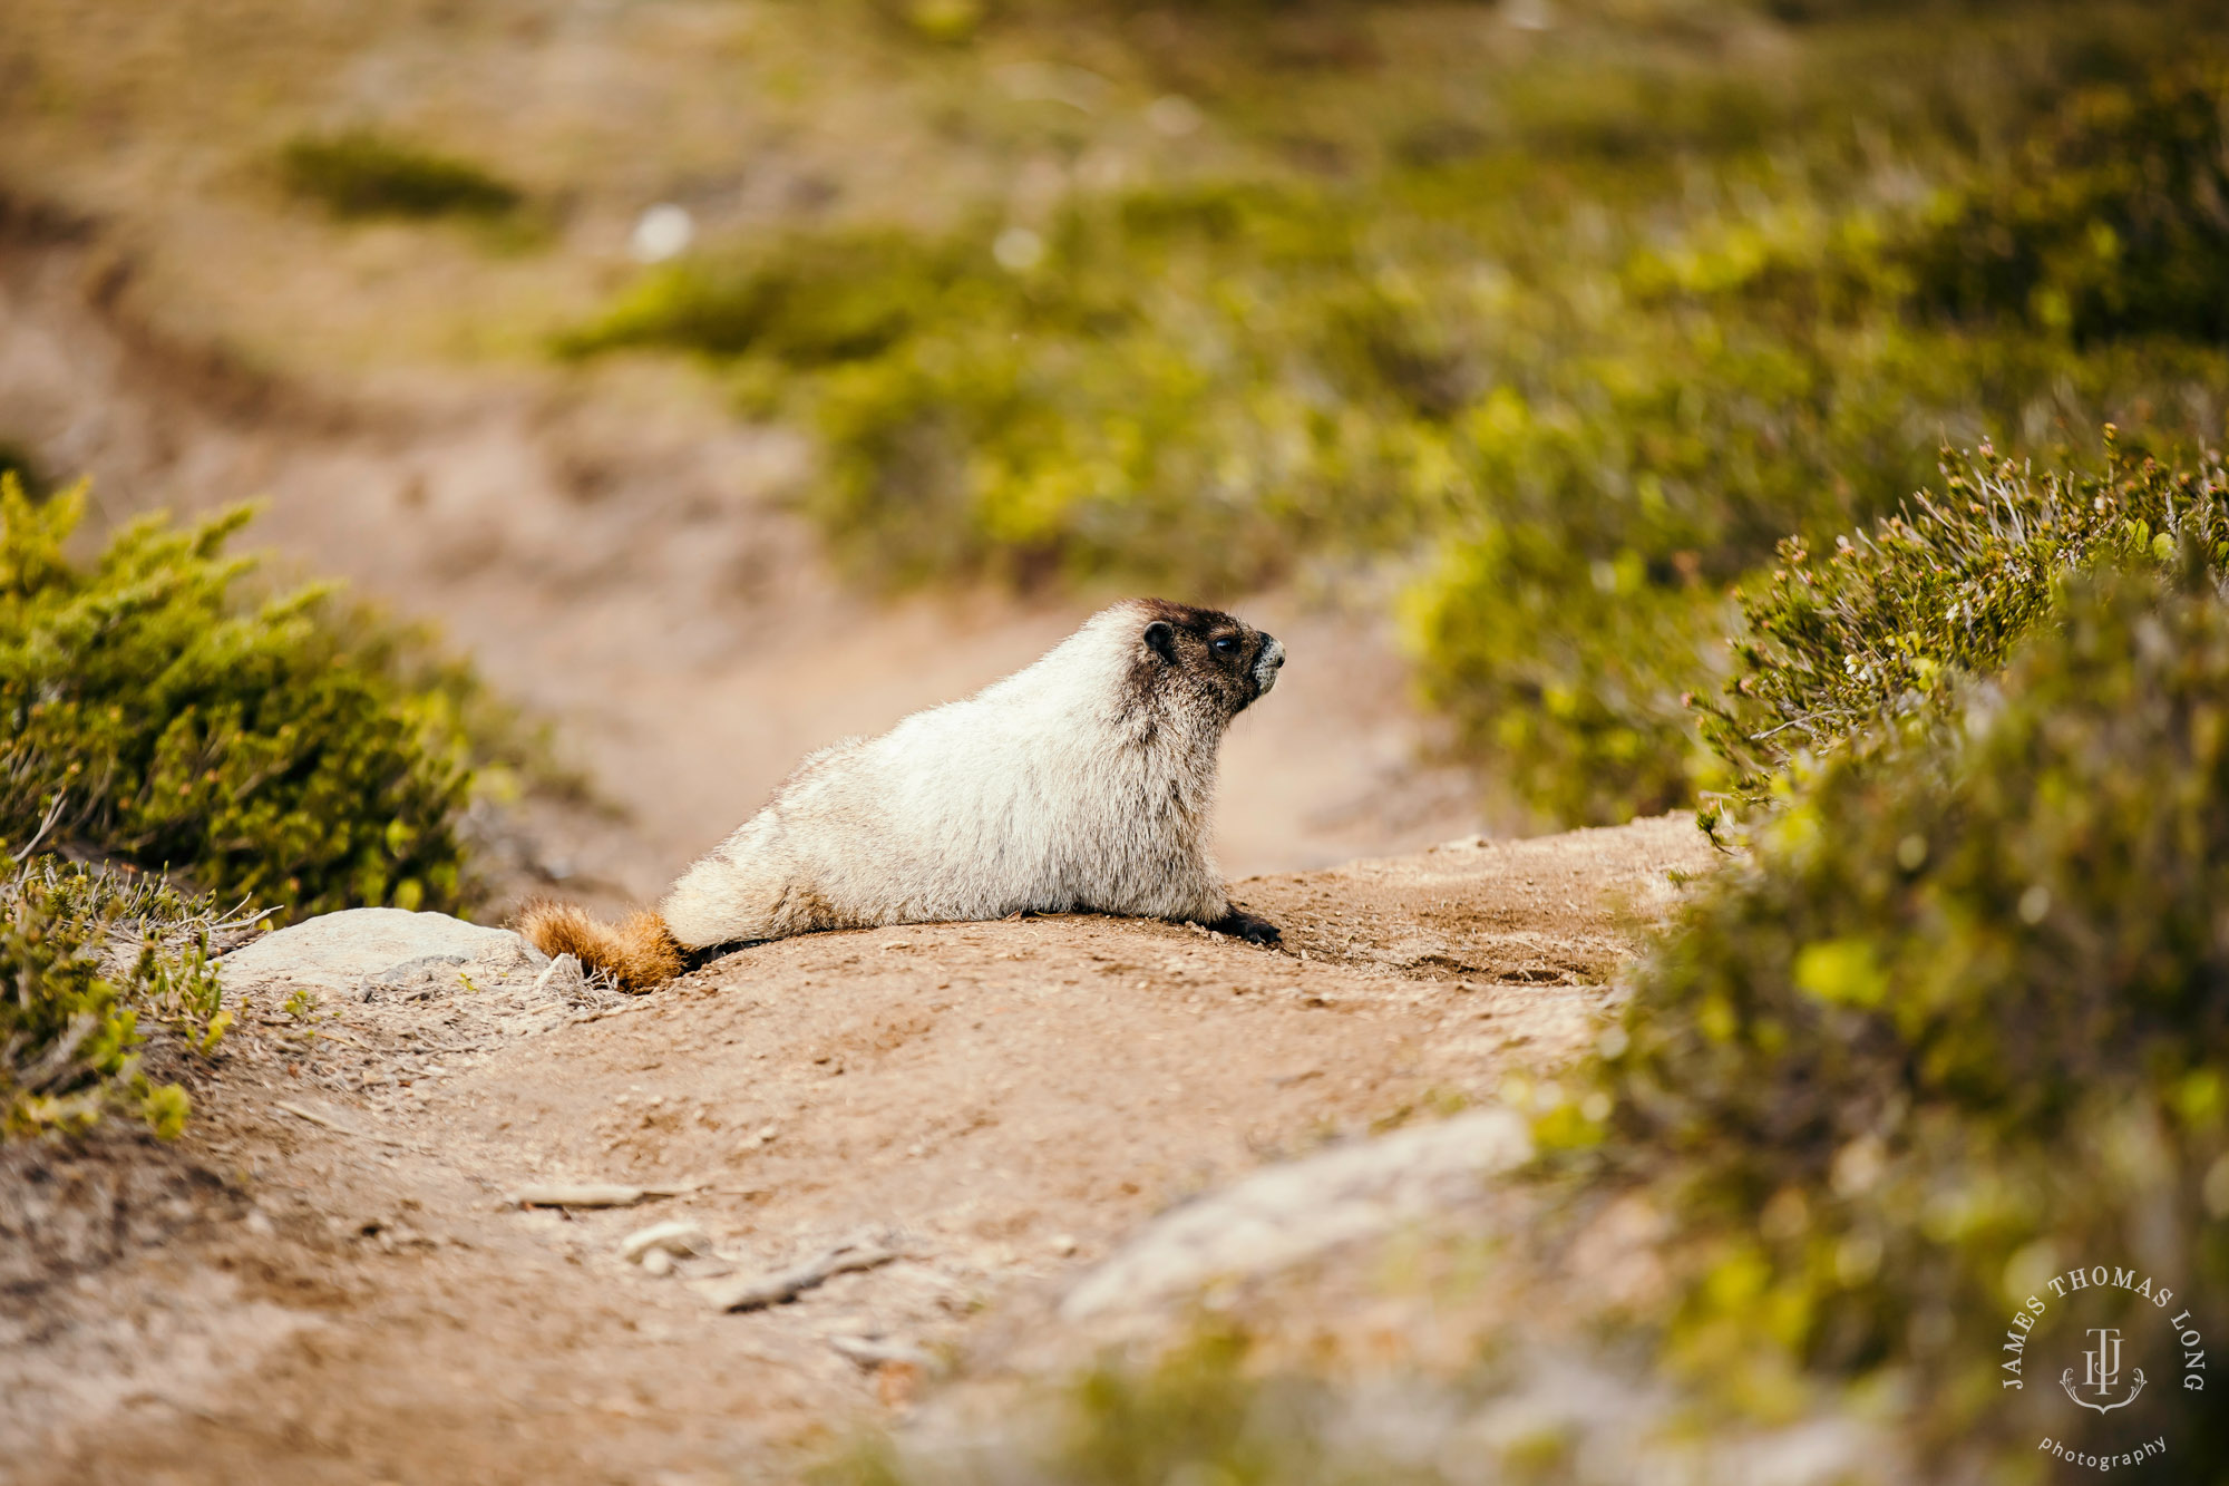
[[[366,982],[401,984],[439,971],[455,980],[459,968],[499,980],[513,971],[537,971],[548,957],[508,928],[466,924],[446,913],[350,908],[252,939],[216,964],[234,986],[283,982],[359,991]]]

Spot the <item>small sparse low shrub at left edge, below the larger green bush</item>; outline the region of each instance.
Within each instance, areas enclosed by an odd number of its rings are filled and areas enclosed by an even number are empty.
[[[165,1060],[216,1051],[232,1013],[210,937],[236,924],[160,879],[0,859],[0,1138],[109,1111],[176,1136],[189,1100],[143,1069],[147,1035]]]

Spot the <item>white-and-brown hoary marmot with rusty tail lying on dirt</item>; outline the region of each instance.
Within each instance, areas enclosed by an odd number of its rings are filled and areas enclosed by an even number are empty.
[[[1206,837],[1224,730],[1282,665],[1284,645],[1228,614],[1114,605],[967,701],[809,756],[655,913],[537,904],[519,933],[635,991],[718,944],[1023,910],[1273,944],[1230,906]]]

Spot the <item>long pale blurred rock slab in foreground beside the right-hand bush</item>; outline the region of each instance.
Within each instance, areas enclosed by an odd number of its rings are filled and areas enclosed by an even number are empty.
[[[1255,1171],[1155,1218],[1068,1292],[1061,1319],[1150,1308],[1217,1278],[1297,1265],[1460,1203],[1529,1156],[1522,1118],[1478,1109]]]

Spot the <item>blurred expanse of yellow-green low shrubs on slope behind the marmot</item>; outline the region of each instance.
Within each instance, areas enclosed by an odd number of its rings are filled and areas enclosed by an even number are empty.
[[[1783,533],[1890,509],[1946,440],[2220,437],[2220,85],[2173,7],[1634,13],[1471,45],[1438,74],[1471,98],[1382,60],[1464,11],[1315,13],[1288,98],[1291,16],[1195,18],[1132,60],[1255,167],[738,239],[562,350],[689,350],[811,424],[805,509],[878,582],[1406,565],[1469,756],[1549,819],[1663,810],[1719,783],[1681,698]]]

